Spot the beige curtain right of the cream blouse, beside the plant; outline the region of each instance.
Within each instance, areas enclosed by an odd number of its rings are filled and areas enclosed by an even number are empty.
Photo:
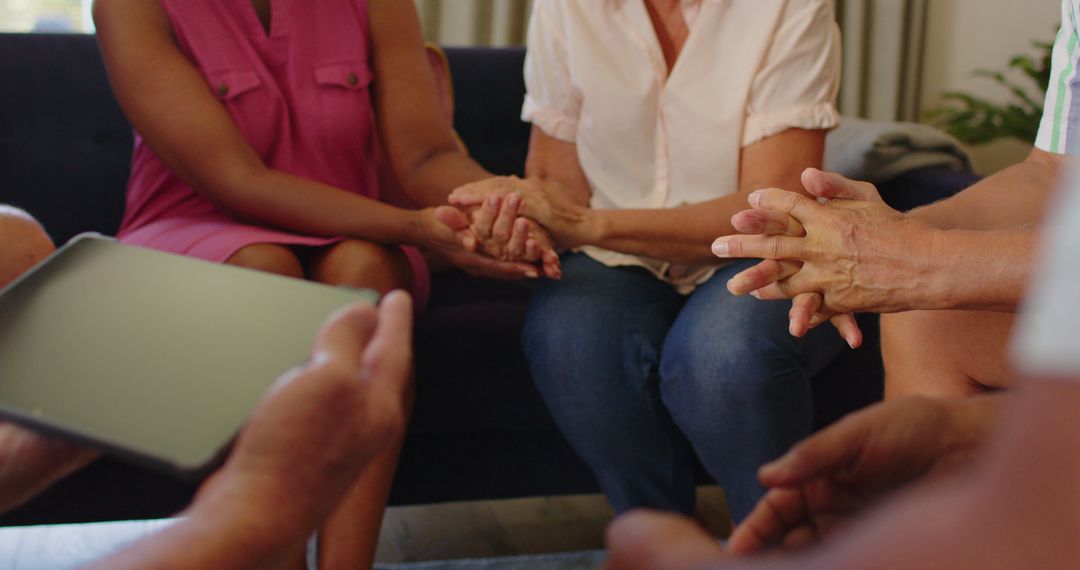
[[[918,121],[929,0],[837,0],[843,114]]]

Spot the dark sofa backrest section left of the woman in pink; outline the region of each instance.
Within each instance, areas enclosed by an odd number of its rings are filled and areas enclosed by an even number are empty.
[[[113,233],[123,214],[132,134],[92,36],[0,35],[0,202],[57,243]]]

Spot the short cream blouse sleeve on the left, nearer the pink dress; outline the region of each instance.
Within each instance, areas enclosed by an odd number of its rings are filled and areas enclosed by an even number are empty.
[[[573,142],[581,93],[573,86],[566,49],[562,0],[537,0],[529,19],[522,120],[548,136]]]

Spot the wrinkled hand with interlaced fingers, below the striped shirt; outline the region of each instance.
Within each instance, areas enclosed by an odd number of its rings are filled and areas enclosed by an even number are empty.
[[[811,324],[835,314],[912,309],[932,276],[923,256],[932,250],[935,230],[890,208],[867,182],[813,168],[802,174],[802,182],[829,202],[778,189],[758,190],[750,201],[754,211],[791,216],[806,229],[805,238],[729,235],[713,244],[723,258],[798,260],[802,266],[759,264],[732,277],[731,291],[761,299],[822,294],[822,315]],[[743,216],[752,215],[735,217]],[[811,308],[808,303],[804,311]]]

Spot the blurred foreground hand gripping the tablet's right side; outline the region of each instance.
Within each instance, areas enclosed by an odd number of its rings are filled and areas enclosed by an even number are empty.
[[[402,291],[378,311],[357,303],[330,316],[309,362],[264,396],[192,510],[222,517],[239,505],[272,537],[307,540],[363,467],[404,434],[411,328]]]

